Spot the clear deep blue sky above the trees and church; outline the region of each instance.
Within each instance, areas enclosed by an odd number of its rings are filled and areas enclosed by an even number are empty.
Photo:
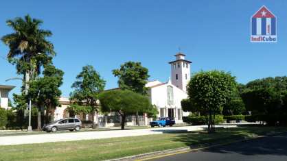
[[[251,43],[250,18],[262,5],[277,16],[277,42]],[[82,66],[93,65],[117,87],[113,69],[128,61],[141,62],[150,80],[166,82],[170,64],[181,51],[192,61],[191,72],[223,70],[246,84],[253,79],[287,74],[287,1],[174,0],[50,0],[1,1],[0,36],[12,33],[5,21],[30,14],[43,20],[43,29],[57,53],[54,65],[65,72],[60,87],[69,97]],[[5,60],[8,47],[0,43],[0,84],[11,80],[15,66]]]

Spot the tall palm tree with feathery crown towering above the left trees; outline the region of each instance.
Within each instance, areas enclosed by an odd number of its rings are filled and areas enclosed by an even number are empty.
[[[56,55],[54,45],[47,40],[52,33],[49,30],[40,29],[43,21],[31,18],[29,14],[24,18],[8,20],[6,23],[14,33],[3,36],[1,40],[10,48],[7,58],[14,58],[17,69],[22,70],[18,73],[24,75],[25,90],[27,90],[27,82],[33,75],[40,73],[41,66],[46,63],[47,58]],[[21,64],[27,67],[21,68],[24,67]]]

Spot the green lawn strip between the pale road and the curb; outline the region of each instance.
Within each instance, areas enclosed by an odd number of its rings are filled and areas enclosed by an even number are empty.
[[[220,143],[220,141],[227,143],[229,140],[284,131],[286,128],[283,127],[238,127],[218,129],[214,134],[188,132],[0,146],[0,160],[107,160],[179,147],[201,147],[208,143]]]

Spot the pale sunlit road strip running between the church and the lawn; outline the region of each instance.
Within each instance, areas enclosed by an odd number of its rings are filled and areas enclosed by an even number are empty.
[[[49,143],[71,140],[89,140],[100,138],[116,138],[124,136],[143,136],[151,134],[163,134],[165,132],[187,132],[206,128],[207,125],[183,126],[183,127],[161,127],[148,129],[110,130],[102,132],[67,132],[56,134],[35,134],[23,136],[1,136],[0,145],[21,145],[32,143]],[[236,125],[218,125],[217,127],[236,127]]]

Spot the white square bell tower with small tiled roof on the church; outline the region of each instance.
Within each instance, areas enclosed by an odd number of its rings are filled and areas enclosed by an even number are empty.
[[[185,54],[181,52],[174,56],[176,60],[169,62],[172,69],[172,84],[186,92],[186,86],[190,82],[190,64],[192,62],[185,60]]]

